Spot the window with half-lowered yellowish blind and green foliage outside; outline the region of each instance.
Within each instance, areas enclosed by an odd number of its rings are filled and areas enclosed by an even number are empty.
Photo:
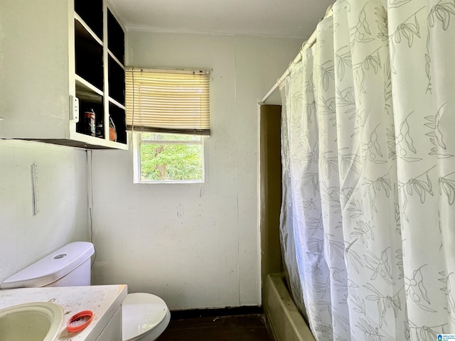
[[[203,182],[210,73],[127,68],[126,80],[134,182]]]

